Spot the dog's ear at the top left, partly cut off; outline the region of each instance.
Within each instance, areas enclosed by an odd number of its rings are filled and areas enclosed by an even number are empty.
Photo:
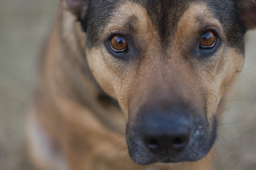
[[[86,11],[89,0],[61,0],[64,8],[71,11],[80,18],[81,13]]]

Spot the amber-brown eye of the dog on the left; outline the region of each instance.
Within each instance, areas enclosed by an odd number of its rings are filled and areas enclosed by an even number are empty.
[[[127,49],[127,42],[124,36],[116,35],[110,39],[110,47],[115,52],[124,52]]]

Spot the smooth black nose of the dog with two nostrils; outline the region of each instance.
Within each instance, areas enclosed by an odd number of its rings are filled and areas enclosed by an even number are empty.
[[[154,154],[180,152],[190,139],[189,117],[182,114],[146,114],[140,126],[144,145]]]

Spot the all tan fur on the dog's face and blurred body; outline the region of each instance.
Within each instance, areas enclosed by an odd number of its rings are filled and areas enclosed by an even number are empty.
[[[127,20],[131,17],[134,19],[133,26],[138,31],[136,34],[139,35],[135,39],[140,42],[145,53],[141,62],[133,65],[127,63],[126,67],[120,67],[120,63],[109,56],[103,45],[90,50],[87,48],[85,52],[85,33],[80,30],[78,23],[74,24],[76,18],[70,12],[63,9],[61,11],[59,15],[61,20],[56,22],[44,55],[43,81],[35,102],[36,117],[33,121],[42,125],[49,132],[52,140],[64,151],[68,168],[72,170],[210,169],[212,152],[198,162],[135,165],[130,163],[130,157],[127,155],[127,145],[123,135],[125,126],[118,127],[118,130],[116,128],[109,130],[118,125],[125,125],[128,119],[136,117],[136,115],[128,115],[128,111],[136,113],[138,107],[135,107],[135,103],[145,104],[153,89],[158,89],[157,92],[168,101],[182,98],[185,102],[200,107],[198,103],[201,102],[202,94],[198,91],[198,87],[203,86],[207,93],[204,99],[207,116],[208,118],[213,116],[220,97],[238,75],[236,70],[241,69],[243,56],[235,49],[223,46],[218,54],[232,62],[223,64],[218,60],[218,56],[208,64],[185,58],[180,46],[192,41],[188,35],[198,34],[192,31],[201,27],[196,21],[197,17],[203,15],[208,26],[216,28],[220,33],[223,32],[220,23],[212,17],[207,6],[192,4],[188,8],[178,24],[170,47],[172,50],[163,53],[160,50],[160,38],[146,10],[132,2],[120,5],[112,22],[104,29],[102,40],[111,32],[127,32]],[[85,59],[85,55],[88,60]],[[164,55],[171,56],[172,59],[167,57],[163,59]],[[187,60],[190,62],[185,62]],[[92,77],[86,77],[87,75],[84,74],[88,69],[84,68],[84,63],[87,62],[102,89],[111,97],[118,99],[125,116],[122,115],[120,108],[114,105],[105,106],[98,100],[97,97],[102,90],[92,81]],[[218,72],[220,67],[223,70],[221,73]],[[164,74],[167,70],[172,71],[171,75]],[[198,77],[192,79],[195,75]],[[179,84],[172,85],[173,81]],[[176,94],[177,98],[169,99],[161,92],[162,90],[164,93]],[[156,97],[159,95],[157,92],[154,94]],[[138,98],[141,94],[144,97]],[[129,101],[128,97],[132,100]],[[156,99],[149,101],[149,105]],[[204,110],[204,108],[200,109]],[[32,154],[36,155],[35,151],[32,150]],[[38,160],[40,158],[36,161],[40,165],[49,163]],[[42,169],[48,167],[40,166]]]

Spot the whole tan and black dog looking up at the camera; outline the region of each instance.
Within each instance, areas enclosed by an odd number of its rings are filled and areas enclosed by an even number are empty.
[[[255,27],[256,0],[61,0],[29,114],[35,166],[210,169]]]

